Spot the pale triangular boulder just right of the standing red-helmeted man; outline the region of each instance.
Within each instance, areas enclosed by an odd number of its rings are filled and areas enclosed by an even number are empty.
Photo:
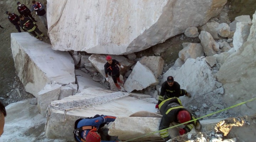
[[[129,75],[126,82],[124,82],[124,89],[127,92],[132,92],[133,90],[142,90],[158,83],[158,79],[155,77],[154,73],[138,61],[133,67],[132,73]]]

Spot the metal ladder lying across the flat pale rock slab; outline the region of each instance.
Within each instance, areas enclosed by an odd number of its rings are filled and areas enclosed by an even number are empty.
[[[72,102],[50,104],[48,105],[48,108],[47,108],[46,117],[48,117],[50,114],[50,108],[57,109],[57,110],[64,111],[64,115],[63,115],[63,121],[64,121],[65,115],[68,111],[86,108],[92,105],[102,104],[105,102],[110,102],[111,100],[126,97],[128,95],[130,95],[130,93],[120,91],[120,92],[100,95],[100,96],[89,98],[89,99],[73,100]]]

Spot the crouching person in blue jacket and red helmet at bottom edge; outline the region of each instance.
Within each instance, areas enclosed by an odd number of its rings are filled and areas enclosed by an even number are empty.
[[[75,122],[74,138],[77,142],[118,142],[101,141],[97,132],[101,127],[116,120],[114,116],[95,115],[93,118],[78,119]]]

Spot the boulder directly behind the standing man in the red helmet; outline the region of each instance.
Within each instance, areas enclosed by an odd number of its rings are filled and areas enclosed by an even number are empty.
[[[122,69],[120,69],[120,75],[124,75],[127,71],[130,70],[130,67],[135,64],[134,61],[131,61],[124,56],[118,56],[118,55],[111,55],[112,59],[116,59],[121,65],[124,66]],[[106,55],[102,54],[93,54],[89,57],[90,62],[92,65],[97,69],[98,72],[101,73],[102,76],[106,77],[105,75],[105,70],[104,70],[104,65],[106,64]]]

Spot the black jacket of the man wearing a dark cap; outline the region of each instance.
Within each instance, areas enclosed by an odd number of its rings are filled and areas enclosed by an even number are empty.
[[[174,84],[172,86],[169,86],[167,81],[162,83],[161,92],[158,98],[158,104],[160,104],[163,100],[166,100],[168,98],[173,97],[180,97],[185,95],[187,92],[180,89],[180,84],[176,81],[174,81]]]

